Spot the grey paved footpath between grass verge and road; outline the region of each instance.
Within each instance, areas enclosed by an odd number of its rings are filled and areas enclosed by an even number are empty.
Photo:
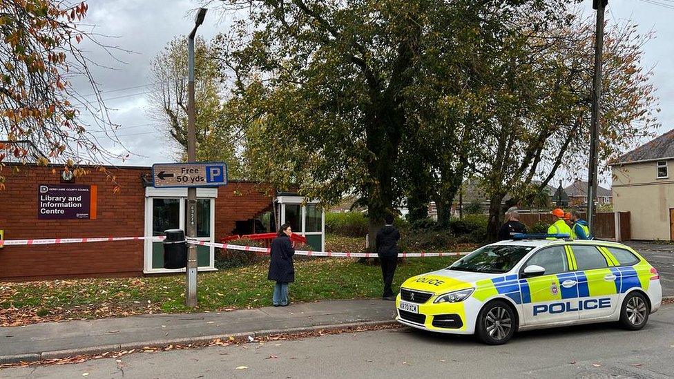
[[[384,324],[392,322],[395,314],[391,301],[334,300],[231,312],[137,315],[3,327],[0,363],[189,344],[229,336],[245,338],[353,324]]]

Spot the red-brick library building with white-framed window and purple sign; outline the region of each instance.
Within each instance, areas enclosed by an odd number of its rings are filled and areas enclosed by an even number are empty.
[[[186,188],[154,188],[149,167],[108,167],[118,185],[117,193],[111,178],[94,167],[74,183],[68,183],[68,175],[61,177],[62,169],[20,164],[0,167],[6,180],[6,188],[0,190],[4,239],[151,236],[162,235],[166,229],[184,229]],[[86,211],[67,217],[61,208],[49,208],[55,203],[43,195],[54,188],[85,191]],[[237,222],[271,211],[270,190],[235,181],[220,188],[198,188],[198,240],[218,242],[231,234]],[[65,197],[62,200],[67,201]],[[161,242],[149,240],[4,246],[0,249],[0,280],[175,272],[163,269],[162,252]],[[198,263],[200,271],[214,270],[214,249],[198,246]]]

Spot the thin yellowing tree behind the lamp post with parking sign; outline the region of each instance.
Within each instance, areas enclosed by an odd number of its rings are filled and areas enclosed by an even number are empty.
[[[187,39],[169,41],[151,62],[154,90],[151,116],[177,145],[177,159],[187,157]],[[195,41],[196,155],[201,162],[227,162],[229,175],[241,177],[237,148],[241,133],[223,108],[224,86],[212,43]]]

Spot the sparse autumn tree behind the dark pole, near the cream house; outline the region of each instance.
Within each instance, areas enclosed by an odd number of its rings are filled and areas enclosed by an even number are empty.
[[[579,20],[532,31],[489,71],[492,112],[479,126],[483,153],[474,171],[490,200],[488,234],[494,240],[505,207],[543,190],[560,167],[583,173],[589,148],[593,22]],[[630,24],[606,29],[601,159],[652,133],[655,103],[651,72],[640,64],[642,43]],[[533,179],[541,179],[532,186]]]

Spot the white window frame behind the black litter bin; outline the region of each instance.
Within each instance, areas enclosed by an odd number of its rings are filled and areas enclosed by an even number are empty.
[[[211,236],[196,237],[196,240],[215,242],[215,199],[218,198],[218,188],[197,188],[197,199],[211,200]],[[185,227],[185,202],[187,200],[187,188],[145,188],[145,236],[152,236],[152,203],[154,199],[179,199],[180,200],[180,224],[179,228]],[[201,266],[198,271],[218,271],[215,269],[215,248],[209,248],[209,266]],[[180,273],[185,269],[153,269],[152,268],[152,240],[145,240],[144,244],[143,273]]]

